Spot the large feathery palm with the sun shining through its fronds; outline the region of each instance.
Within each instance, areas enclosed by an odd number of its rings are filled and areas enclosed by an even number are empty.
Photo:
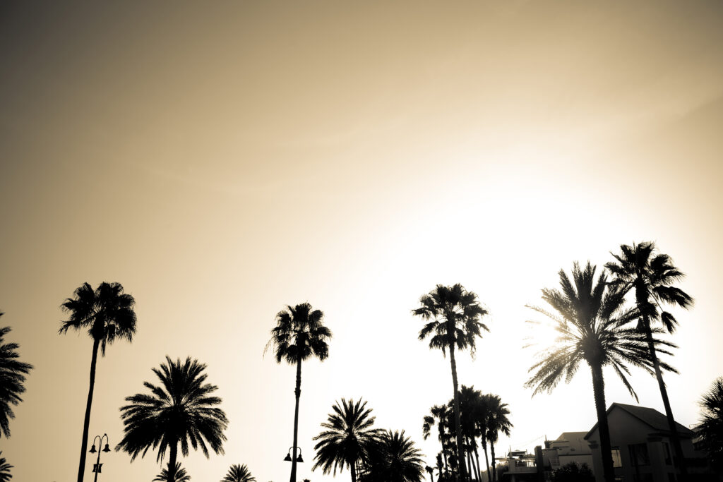
[[[595,270],[596,267],[589,262],[581,270],[576,262],[573,264],[572,281],[564,270],[560,270],[561,290],[542,290],[542,299],[554,311],[530,306],[552,319],[559,335],[555,346],[540,353],[541,360],[531,366],[529,371],[534,374],[525,385],[534,388],[533,395],[542,391],[552,392],[560,380],[570,382],[581,362],[587,363],[592,375],[604,479],[612,482],[615,475],[612,469],[602,369],[604,366],[612,367],[630,395],[637,400],[638,397],[625,376],[630,374],[625,363],[653,373],[653,362],[646,336],[633,328],[623,327],[638,317],[637,309],[625,309],[625,292],[609,286],[604,273],[596,281]],[[656,339],[654,344],[675,346]],[[669,354],[664,348],[659,351]],[[661,363],[661,367],[675,371],[667,363]]]

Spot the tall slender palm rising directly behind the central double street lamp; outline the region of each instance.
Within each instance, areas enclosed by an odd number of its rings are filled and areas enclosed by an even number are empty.
[[[312,309],[308,303],[298,304],[294,307],[286,306],[286,310],[276,315],[276,326],[271,330],[271,339],[266,344],[275,347],[276,363],[286,360],[296,365],[296,406],[294,408],[294,457],[291,457],[291,482],[296,482],[296,447],[299,433],[299,397],[301,397],[301,361],[309,359],[312,355],[321,361],[329,356],[327,340],[331,337],[331,330],[322,324],[324,314],[318,309]]]

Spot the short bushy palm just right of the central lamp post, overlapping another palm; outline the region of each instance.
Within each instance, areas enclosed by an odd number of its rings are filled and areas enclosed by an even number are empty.
[[[351,471],[351,482],[356,482],[357,465],[381,433],[380,429],[372,428],[375,417],[370,416],[372,409],[366,406],[361,399],[354,404],[354,400],[347,402],[343,398],[341,406],[338,402],[333,405],[334,413],[321,424],[326,430],[314,437],[319,442],[314,447],[317,454],[312,470],[322,468],[328,474],[333,469],[336,475],[336,469],[341,472],[346,465]]]

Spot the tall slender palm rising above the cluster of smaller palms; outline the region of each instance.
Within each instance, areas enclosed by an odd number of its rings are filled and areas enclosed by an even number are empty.
[[[464,469],[464,455],[462,444],[462,428],[459,409],[459,392],[457,384],[457,362],[455,361],[455,349],[464,350],[469,348],[472,355],[476,349],[476,337],[482,336],[482,330],[489,332],[487,326],[480,321],[487,310],[479,305],[477,295],[466,291],[457,283],[453,286],[437,285],[429,293],[419,298],[422,304],[412,313],[422,317],[427,324],[419,331],[419,340],[424,340],[429,335],[429,348],[446,350],[450,352],[450,364],[452,367],[452,385],[454,397],[454,420],[455,436],[457,438],[457,457],[461,478],[466,479]]]

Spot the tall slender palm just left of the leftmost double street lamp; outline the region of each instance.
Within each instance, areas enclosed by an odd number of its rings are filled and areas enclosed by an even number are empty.
[[[136,330],[136,315],[133,311],[135,300],[128,293],[123,293],[120,283],[100,283],[93,290],[88,283],[83,283],[75,290],[74,298],[67,298],[61,309],[69,313],[66,321],[61,322],[59,332],[87,329],[93,338],[93,356],[90,358],[90,387],[88,388],[83,434],[80,443],[80,465],[78,466],[78,482],[83,481],[85,473],[85,452],[88,442],[88,426],[90,425],[90,406],[93,405],[93,388],[95,387],[95,364],[98,361],[98,348],[106,356],[106,345],[117,339],[131,342]]]

